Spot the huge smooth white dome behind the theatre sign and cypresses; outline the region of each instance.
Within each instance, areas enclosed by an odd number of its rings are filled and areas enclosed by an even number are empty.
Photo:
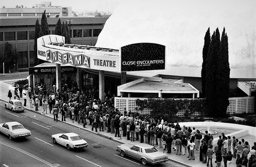
[[[231,78],[256,78],[255,0],[131,0],[121,2],[99,34],[97,47],[133,43],[166,45],[165,70],[130,72],[201,76],[205,32],[223,27],[228,36]]]

